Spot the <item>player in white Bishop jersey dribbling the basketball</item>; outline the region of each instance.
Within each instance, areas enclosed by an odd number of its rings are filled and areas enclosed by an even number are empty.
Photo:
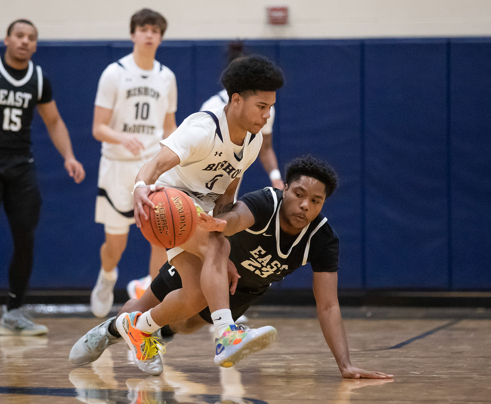
[[[223,109],[196,113],[185,119],[161,142],[159,154],[145,163],[136,176],[134,208],[138,227],[142,220],[148,220],[143,205],[155,207],[148,199],[149,194],[164,188],[158,184],[185,190],[196,205],[204,210],[213,209],[214,214],[228,211],[233,205],[239,178],[261,148],[260,131],[270,117],[283,75],[271,61],[252,56],[230,63],[221,82],[230,97],[228,104]],[[152,299],[153,294],[147,289],[139,300],[126,303],[125,310],[131,313],[123,311],[115,322],[108,320],[108,326],[112,324],[108,332],[125,339],[136,365],[148,374],[161,374],[162,359],[151,334],[165,324],[193,316],[206,306],[210,307],[217,337],[216,364],[232,366],[244,355],[269,345],[276,335],[273,327],[248,329],[234,324],[228,298],[230,243],[225,236],[198,227],[181,248],[184,251],[176,256],[169,250],[169,261],[181,275],[182,289],[169,293],[162,302],[152,301],[147,306],[152,309],[145,313],[132,311],[134,302]],[[73,363],[87,363],[86,349],[90,344],[85,341],[92,339],[91,335],[89,331],[72,348]],[[106,342],[112,343],[109,339]]]

